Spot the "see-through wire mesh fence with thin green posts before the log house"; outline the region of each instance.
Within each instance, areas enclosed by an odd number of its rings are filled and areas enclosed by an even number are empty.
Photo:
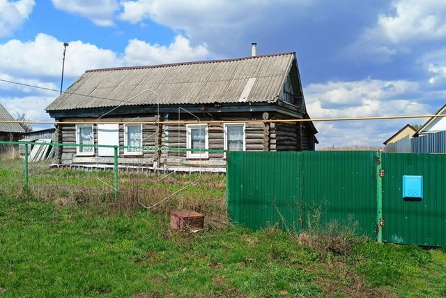
[[[55,204],[95,204],[109,211],[137,209],[169,214],[192,209],[209,225],[224,223],[223,174],[160,167],[159,158],[184,149],[113,145],[0,142],[0,191]]]

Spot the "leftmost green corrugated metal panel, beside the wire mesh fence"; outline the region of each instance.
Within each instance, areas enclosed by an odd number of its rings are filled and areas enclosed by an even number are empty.
[[[230,152],[226,170],[228,213],[259,229],[277,223],[300,232],[300,154]]]

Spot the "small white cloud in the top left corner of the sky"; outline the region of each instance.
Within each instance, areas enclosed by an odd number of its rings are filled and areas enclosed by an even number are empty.
[[[20,28],[32,13],[34,5],[34,0],[0,0],[0,37]]]

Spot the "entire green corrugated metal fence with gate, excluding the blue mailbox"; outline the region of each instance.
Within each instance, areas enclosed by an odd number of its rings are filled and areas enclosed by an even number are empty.
[[[446,246],[446,156],[374,151],[230,152],[228,213],[249,228],[308,230],[318,215],[358,224],[378,241]],[[420,201],[403,200],[403,175],[423,176]]]

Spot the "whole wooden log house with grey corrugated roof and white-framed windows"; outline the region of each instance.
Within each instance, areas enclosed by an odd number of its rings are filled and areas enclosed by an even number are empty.
[[[59,143],[185,149],[120,149],[123,167],[224,172],[224,153],[187,149],[301,151],[317,143],[311,121],[245,122],[309,119],[293,52],[87,70],[46,110],[60,123]],[[166,124],[178,120],[204,124]],[[164,123],[134,124],[143,121]],[[112,150],[97,147],[60,147],[56,156],[59,165],[114,161]]]

